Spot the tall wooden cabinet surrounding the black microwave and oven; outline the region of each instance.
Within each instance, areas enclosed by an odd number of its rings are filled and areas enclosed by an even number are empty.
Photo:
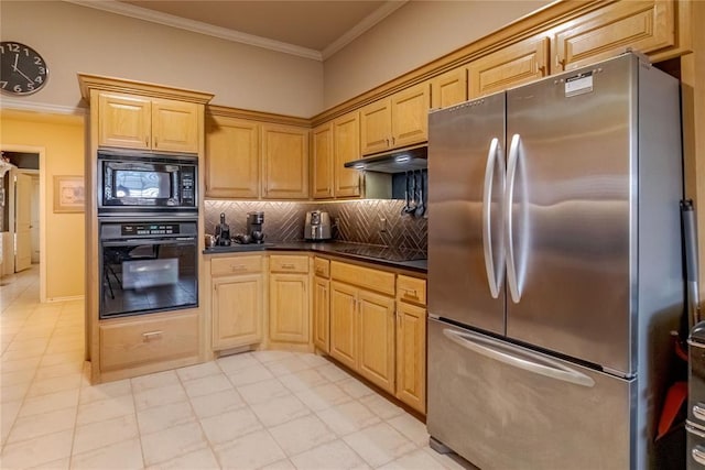
[[[85,161],[85,193],[96,195],[99,149],[191,153],[204,160],[204,110],[213,95],[79,74],[82,97],[90,106]],[[198,185],[203,187],[203,171]],[[203,198],[199,200],[198,250],[203,250]],[[98,211],[86,197],[86,359],[93,383],[118,380],[210,358],[202,307],[150,315],[99,319],[102,273],[98,258]],[[199,277],[203,267],[199,266]],[[205,293],[199,287],[199,305]]]

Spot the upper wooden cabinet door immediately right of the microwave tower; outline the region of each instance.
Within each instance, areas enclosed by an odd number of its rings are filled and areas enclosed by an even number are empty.
[[[260,127],[214,117],[206,133],[206,196],[259,197]]]

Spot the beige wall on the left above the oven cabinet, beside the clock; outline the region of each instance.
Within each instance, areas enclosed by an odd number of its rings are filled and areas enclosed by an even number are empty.
[[[76,73],[215,94],[215,105],[297,117],[323,109],[323,64],[59,1],[0,2],[0,39],[34,47],[46,87],[22,101],[75,107]]]

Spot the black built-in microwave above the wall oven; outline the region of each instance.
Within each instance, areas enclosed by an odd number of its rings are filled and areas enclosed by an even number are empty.
[[[198,211],[198,157],[98,151],[98,215]]]

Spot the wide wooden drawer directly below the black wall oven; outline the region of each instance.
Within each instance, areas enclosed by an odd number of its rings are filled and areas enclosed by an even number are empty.
[[[198,314],[101,325],[100,371],[129,369],[198,354]]]

